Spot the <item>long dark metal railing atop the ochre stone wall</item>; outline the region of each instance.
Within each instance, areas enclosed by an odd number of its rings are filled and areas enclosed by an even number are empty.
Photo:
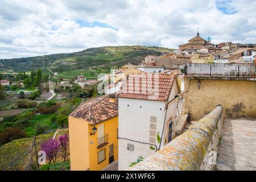
[[[187,64],[185,76],[256,77],[255,64]]]

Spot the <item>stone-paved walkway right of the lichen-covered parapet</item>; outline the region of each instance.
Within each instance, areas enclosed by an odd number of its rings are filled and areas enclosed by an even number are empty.
[[[225,119],[217,170],[256,170],[256,119]]]

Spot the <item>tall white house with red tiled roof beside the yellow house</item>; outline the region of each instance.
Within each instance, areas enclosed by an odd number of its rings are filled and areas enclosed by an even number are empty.
[[[118,169],[129,168],[139,156],[147,158],[174,137],[175,75],[130,74],[118,98]]]

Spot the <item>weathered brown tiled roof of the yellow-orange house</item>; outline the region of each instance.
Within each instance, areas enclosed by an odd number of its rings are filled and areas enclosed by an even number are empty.
[[[118,116],[118,99],[113,94],[93,98],[82,103],[69,117],[84,119],[92,125]]]

